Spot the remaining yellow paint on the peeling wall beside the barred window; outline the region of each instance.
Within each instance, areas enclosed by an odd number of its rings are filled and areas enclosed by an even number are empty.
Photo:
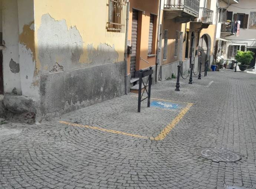
[[[76,27],[79,31],[83,40],[83,54],[79,59],[80,67],[83,67],[83,64],[90,63],[87,48],[91,44],[95,49],[101,43],[106,43],[111,47],[114,46],[118,53],[116,61],[124,61],[125,32],[109,32],[106,30],[108,0],[76,0],[75,2],[73,0],[34,0],[34,7],[36,64],[39,72],[42,69],[47,69],[43,68],[39,61],[37,33],[44,14],[49,14],[56,21],[64,19],[68,28]],[[58,62],[58,59],[56,59],[56,62]]]

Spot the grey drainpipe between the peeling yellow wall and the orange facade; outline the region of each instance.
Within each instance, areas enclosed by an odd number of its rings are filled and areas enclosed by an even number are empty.
[[[125,23],[125,47],[124,47],[124,85],[125,85],[125,95],[128,95],[128,71],[127,71],[127,43],[128,43],[128,27],[129,27],[129,9],[130,3],[127,0],[126,7],[126,23]]]

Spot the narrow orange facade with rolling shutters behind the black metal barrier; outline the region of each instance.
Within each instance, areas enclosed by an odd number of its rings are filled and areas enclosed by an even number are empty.
[[[152,66],[156,77],[159,0],[129,0],[127,70],[131,92],[138,91],[139,70]],[[155,79],[153,79],[155,82]]]

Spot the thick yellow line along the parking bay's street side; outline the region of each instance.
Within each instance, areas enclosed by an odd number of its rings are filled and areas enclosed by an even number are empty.
[[[157,137],[154,137],[154,140],[163,140],[170,131],[176,126],[176,124],[183,118],[183,116],[187,113],[187,111],[190,109],[190,107],[193,105],[193,103],[188,103],[188,105],[181,110],[181,112],[174,118],[174,120],[166,126],[161,133],[157,135]]]

